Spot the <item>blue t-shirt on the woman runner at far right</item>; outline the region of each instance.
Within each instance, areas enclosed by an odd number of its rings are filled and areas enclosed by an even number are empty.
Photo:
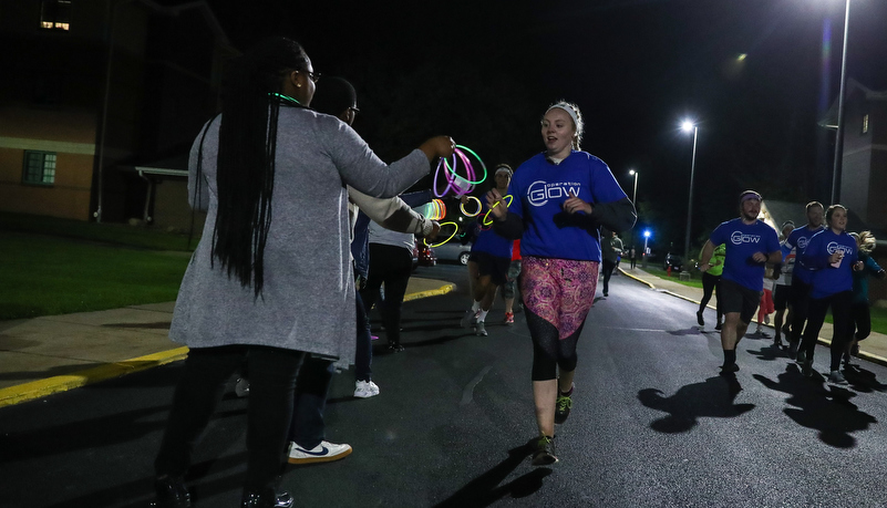
[[[837,251],[844,251],[844,259],[836,268],[828,262],[828,257]],[[846,231],[836,235],[831,229],[823,229],[812,236],[800,257],[800,261],[813,270],[809,297],[821,299],[842,291],[853,291],[853,265],[857,259],[859,253],[856,250],[856,240]]]

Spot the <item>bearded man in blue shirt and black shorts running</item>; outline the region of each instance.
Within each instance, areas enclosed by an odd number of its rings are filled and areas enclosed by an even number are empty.
[[[721,348],[724,350],[722,374],[739,371],[736,344],[745,335],[749,323],[761,300],[764,286],[764,266],[782,261],[776,231],[757,220],[761,214],[761,195],[746,190],[740,195],[740,217],[718,226],[702,248],[701,271],[711,268],[714,246],[726,245],[721,292],[724,325],[721,328]]]

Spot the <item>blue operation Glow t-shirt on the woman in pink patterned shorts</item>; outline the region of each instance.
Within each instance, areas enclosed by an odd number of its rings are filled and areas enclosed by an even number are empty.
[[[538,154],[514,173],[508,211],[524,219],[522,256],[600,262],[600,236],[586,217],[563,210],[573,193],[590,203],[613,203],[626,193],[604,162],[587,152],[570,152],[560,164]]]

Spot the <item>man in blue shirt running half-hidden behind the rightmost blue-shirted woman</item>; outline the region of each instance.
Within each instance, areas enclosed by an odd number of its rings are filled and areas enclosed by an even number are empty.
[[[804,331],[804,322],[807,321],[807,308],[809,307],[809,284],[813,273],[802,260],[802,253],[807,247],[811,237],[823,230],[823,212],[825,208],[819,201],[811,201],[806,207],[807,224],[794,229],[782,247],[783,258],[787,258],[794,252],[795,267],[792,272],[792,290],[788,293],[788,304],[792,308],[792,331],[788,339],[788,357],[797,357],[797,344],[801,343],[801,334]],[[798,359],[803,360],[803,359]],[[803,363],[803,362],[802,362]]]

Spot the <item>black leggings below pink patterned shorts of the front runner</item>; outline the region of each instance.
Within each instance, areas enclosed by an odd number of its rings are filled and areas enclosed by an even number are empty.
[[[554,324],[524,308],[529,336],[533,339],[533,381],[557,379],[557,367],[570,372],[576,370],[576,343],[585,328],[585,321],[568,338],[559,339]]]

